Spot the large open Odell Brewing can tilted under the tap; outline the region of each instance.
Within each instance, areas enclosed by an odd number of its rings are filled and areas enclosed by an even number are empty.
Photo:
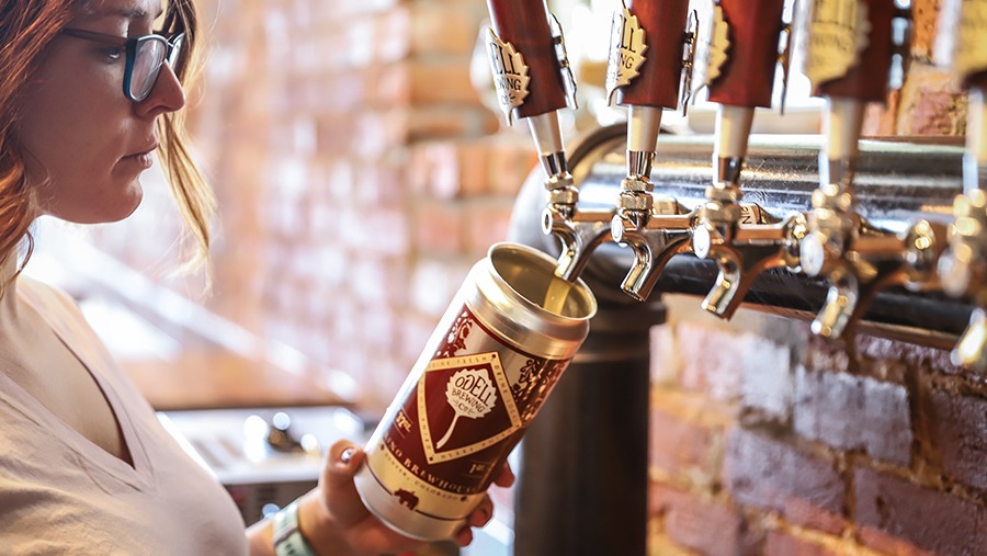
[[[355,477],[394,530],[453,536],[586,339],[595,299],[554,272],[552,258],[513,243],[469,272]]]

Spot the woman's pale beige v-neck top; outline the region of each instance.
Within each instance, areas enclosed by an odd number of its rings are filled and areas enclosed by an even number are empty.
[[[16,292],[89,368],[134,465],[0,372],[0,554],[247,554],[229,495],[164,431],[75,302],[23,275]]]

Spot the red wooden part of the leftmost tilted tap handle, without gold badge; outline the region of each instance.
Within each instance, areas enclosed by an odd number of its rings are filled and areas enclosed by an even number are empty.
[[[530,93],[514,109],[531,117],[566,107],[566,89],[548,26],[544,0],[487,0],[494,33],[514,46],[527,66]]]

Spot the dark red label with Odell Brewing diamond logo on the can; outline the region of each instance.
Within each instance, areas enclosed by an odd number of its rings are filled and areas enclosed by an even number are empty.
[[[461,353],[476,347],[484,351]],[[483,492],[567,364],[507,345],[464,306],[402,400],[384,447],[431,487]]]

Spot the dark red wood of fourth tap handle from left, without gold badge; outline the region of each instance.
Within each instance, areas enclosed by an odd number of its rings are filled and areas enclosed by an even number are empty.
[[[860,60],[846,76],[816,86],[816,95],[884,102],[887,97],[894,44],[895,0],[860,0],[866,7],[871,31]]]

